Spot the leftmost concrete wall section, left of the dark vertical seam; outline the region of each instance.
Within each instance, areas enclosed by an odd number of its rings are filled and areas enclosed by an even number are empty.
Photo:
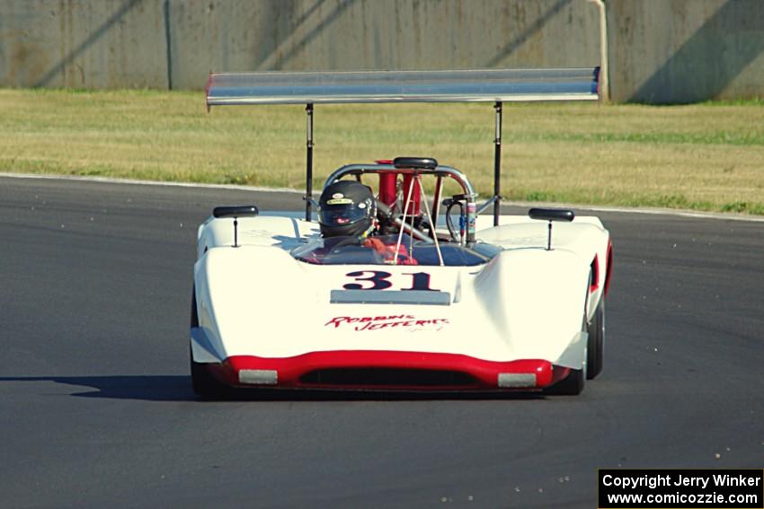
[[[0,84],[162,88],[161,2],[3,0]]]

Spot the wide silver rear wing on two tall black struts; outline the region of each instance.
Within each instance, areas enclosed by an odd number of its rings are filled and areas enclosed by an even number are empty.
[[[252,104],[305,104],[307,112],[306,221],[313,195],[315,104],[381,102],[493,102],[493,222],[499,224],[502,103],[596,101],[600,67],[473,69],[462,71],[359,71],[213,73],[207,108]]]

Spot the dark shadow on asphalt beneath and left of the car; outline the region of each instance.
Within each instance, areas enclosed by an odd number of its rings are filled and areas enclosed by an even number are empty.
[[[139,399],[146,401],[199,401],[187,375],[103,375],[103,376],[4,376],[7,382],[54,382],[88,388],[69,396],[98,399]],[[544,399],[538,392],[449,392],[449,391],[325,391],[284,389],[236,389],[216,400],[234,401],[405,401],[405,400]]]

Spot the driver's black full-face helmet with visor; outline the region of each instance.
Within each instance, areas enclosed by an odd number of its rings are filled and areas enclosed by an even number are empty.
[[[326,186],[318,207],[318,223],[324,237],[362,237],[369,233],[377,215],[371,189],[355,180],[339,180]]]

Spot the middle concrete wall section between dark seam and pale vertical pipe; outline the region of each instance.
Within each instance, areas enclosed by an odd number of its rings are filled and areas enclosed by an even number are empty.
[[[200,83],[210,69],[595,66],[600,60],[598,13],[585,0],[172,5],[173,83],[183,87]],[[206,47],[199,53],[189,50],[200,46]]]

